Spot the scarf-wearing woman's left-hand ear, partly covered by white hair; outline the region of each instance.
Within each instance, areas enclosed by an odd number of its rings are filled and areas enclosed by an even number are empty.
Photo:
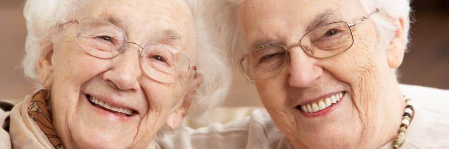
[[[40,84],[42,84],[43,87],[49,88],[51,87],[51,84],[53,84],[53,65],[52,65],[52,57],[53,57],[53,46],[49,46],[49,50],[46,50],[47,48],[44,48],[40,58],[39,62],[37,64],[37,72],[39,74],[39,80]]]

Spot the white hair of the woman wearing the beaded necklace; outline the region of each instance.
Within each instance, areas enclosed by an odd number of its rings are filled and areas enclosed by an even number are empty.
[[[227,44],[232,62],[246,52],[246,43],[241,28],[238,26],[237,6],[244,0],[205,0],[206,18],[214,26]],[[407,47],[410,29],[410,0],[360,0],[367,13],[380,8],[382,15],[372,15],[380,38],[380,47],[385,47],[393,38],[396,30],[392,19],[404,19],[404,40]]]

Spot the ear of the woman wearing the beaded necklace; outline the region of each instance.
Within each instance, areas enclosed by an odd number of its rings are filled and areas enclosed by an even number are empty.
[[[396,26],[396,30],[387,47],[387,60],[390,68],[396,69],[401,65],[406,49],[404,39],[404,18],[394,20],[393,22]]]

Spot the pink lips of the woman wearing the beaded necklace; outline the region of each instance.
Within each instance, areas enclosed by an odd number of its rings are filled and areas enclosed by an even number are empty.
[[[332,104],[331,106],[329,106],[329,107],[327,107],[326,109],[323,109],[323,110],[321,110],[321,111],[314,112],[314,113],[306,113],[306,112],[302,111],[301,109],[296,108],[298,105],[307,104],[307,103],[313,103],[313,102],[316,102],[316,101],[318,101],[318,100],[320,100],[320,99],[322,99],[322,98],[330,97],[330,96],[332,96],[332,95],[335,95],[335,94],[337,94],[337,93],[339,93],[339,92],[343,92],[343,96],[341,97],[340,101],[338,101],[337,103]],[[297,106],[295,106],[295,109],[298,110],[299,112],[301,112],[305,117],[310,117],[310,118],[313,118],[313,117],[319,117],[319,116],[326,115],[326,114],[332,112],[338,105],[340,105],[340,103],[341,103],[341,102],[344,100],[344,98],[346,97],[346,93],[347,93],[346,91],[339,91],[339,92],[334,92],[334,93],[326,94],[326,95],[324,95],[324,96],[320,96],[320,97],[318,97],[318,98],[314,98],[313,100],[309,100],[309,101],[307,101],[307,102],[303,102],[302,104],[298,104]]]

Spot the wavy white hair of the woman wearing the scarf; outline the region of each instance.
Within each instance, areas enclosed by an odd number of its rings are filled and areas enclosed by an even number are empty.
[[[202,17],[196,10],[196,0],[184,0],[195,17],[197,37],[197,75],[202,80],[195,94],[191,96],[189,117],[202,115],[223,103],[231,83],[231,69],[223,44],[214,44],[218,36],[208,31]],[[23,15],[26,21],[27,36],[25,56],[22,60],[24,74],[37,88],[39,83],[37,64],[39,57],[51,48],[53,37],[58,34],[61,24],[72,19],[75,9],[81,5],[78,0],[26,0]]]

